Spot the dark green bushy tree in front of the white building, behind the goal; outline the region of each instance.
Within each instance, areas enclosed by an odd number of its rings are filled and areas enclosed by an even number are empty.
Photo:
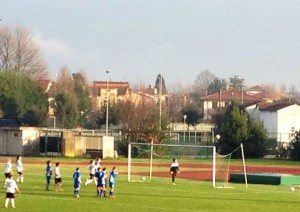
[[[221,154],[229,154],[241,143],[247,158],[263,157],[267,149],[267,130],[262,123],[250,120],[244,106],[233,101],[224,115],[216,116],[216,133],[221,135],[217,147]],[[234,153],[233,157],[240,157]]]

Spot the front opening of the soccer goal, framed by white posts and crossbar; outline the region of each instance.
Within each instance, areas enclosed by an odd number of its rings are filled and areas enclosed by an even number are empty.
[[[213,148],[195,144],[131,142],[128,144],[128,181],[143,182],[146,177],[149,180],[170,177],[170,164],[174,158],[179,159],[179,176],[195,175],[193,179],[200,180],[202,178],[197,176],[205,175],[205,179],[211,180]]]

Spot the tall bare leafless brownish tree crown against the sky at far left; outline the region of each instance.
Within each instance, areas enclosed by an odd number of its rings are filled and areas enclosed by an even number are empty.
[[[41,51],[24,27],[0,27],[0,71],[3,70],[21,72],[34,80],[47,76]]]

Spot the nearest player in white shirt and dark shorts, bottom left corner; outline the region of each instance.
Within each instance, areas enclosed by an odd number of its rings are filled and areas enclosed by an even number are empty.
[[[17,186],[16,181],[12,178],[12,174],[8,174],[4,181],[4,188],[6,189],[5,208],[8,208],[9,200],[11,200],[11,207],[15,208],[15,193],[20,190]]]

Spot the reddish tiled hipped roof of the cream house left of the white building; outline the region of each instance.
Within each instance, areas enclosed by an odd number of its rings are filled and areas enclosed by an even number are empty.
[[[210,101],[232,101],[232,100],[241,100],[243,98],[243,101],[245,102],[260,102],[262,101],[261,98],[257,98],[255,96],[246,94],[245,92],[238,91],[238,90],[226,90],[222,91],[221,93],[214,93],[210,94],[208,96],[204,96],[201,98],[201,100],[210,100]]]

